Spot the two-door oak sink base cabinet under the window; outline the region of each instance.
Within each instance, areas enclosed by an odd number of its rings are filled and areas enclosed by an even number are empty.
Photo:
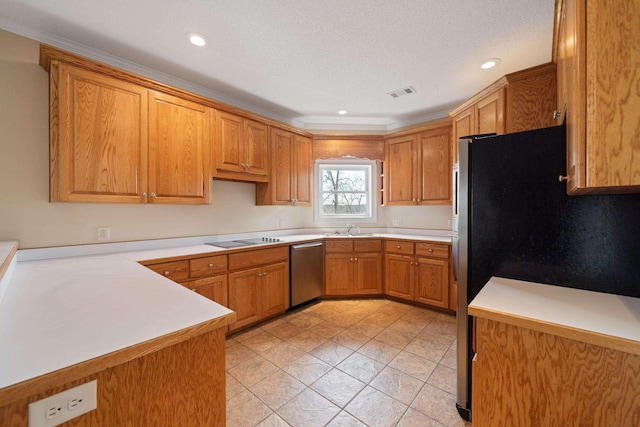
[[[325,295],[382,294],[381,240],[328,240],[324,265]]]

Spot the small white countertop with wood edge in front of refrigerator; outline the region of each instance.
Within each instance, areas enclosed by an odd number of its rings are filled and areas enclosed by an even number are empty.
[[[469,307],[640,343],[640,298],[492,277]]]

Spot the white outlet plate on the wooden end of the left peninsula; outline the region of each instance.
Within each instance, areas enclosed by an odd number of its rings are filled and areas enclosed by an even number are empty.
[[[79,385],[29,404],[29,427],[53,427],[98,407],[98,382]]]

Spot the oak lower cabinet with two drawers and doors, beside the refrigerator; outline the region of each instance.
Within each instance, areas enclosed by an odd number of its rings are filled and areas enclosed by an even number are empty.
[[[450,309],[449,245],[385,241],[385,294]]]

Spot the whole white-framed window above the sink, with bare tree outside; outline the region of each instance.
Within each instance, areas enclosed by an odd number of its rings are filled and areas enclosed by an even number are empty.
[[[375,171],[371,160],[317,160],[315,222],[375,222]]]

